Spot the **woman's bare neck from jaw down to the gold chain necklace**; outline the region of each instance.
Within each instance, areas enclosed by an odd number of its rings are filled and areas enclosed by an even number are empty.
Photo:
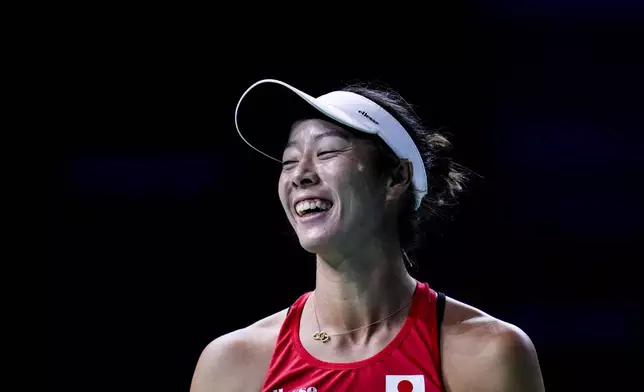
[[[355,255],[334,256],[330,258],[332,262],[317,256],[315,309],[327,333],[364,327],[411,300],[416,280],[405,268],[400,246],[393,244],[387,249],[382,242],[374,244],[378,245],[361,247]],[[374,328],[394,319],[400,320],[392,317]],[[369,334],[369,330],[361,332]]]

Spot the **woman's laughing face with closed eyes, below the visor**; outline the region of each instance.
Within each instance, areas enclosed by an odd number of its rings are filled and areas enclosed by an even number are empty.
[[[377,150],[324,120],[295,123],[283,153],[279,197],[302,247],[348,250],[372,236],[387,208],[387,180]]]

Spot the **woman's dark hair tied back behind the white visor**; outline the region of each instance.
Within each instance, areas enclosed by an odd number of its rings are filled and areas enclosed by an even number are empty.
[[[414,266],[409,254],[420,245],[420,224],[426,219],[446,217],[446,209],[456,204],[458,194],[464,190],[469,171],[448,156],[452,149],[449,140],[444,135],[425,128],[412,105],[397,92],[383,87],[372,88],[367,84],[353,84],[342,90],[362,95],[391,114],[407,130],[423,158],[429,183],[427,195],[420,208],[414,210],[414,189],[411,184],[398,219],[403,255]],[[382,152],[379,156],[379,169],[386,173],[399,160],[382,140],[374,138],[373,141]]]

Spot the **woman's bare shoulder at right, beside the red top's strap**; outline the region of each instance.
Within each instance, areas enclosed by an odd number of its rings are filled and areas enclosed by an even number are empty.
[[[448,391],[544,390],[535,347],[519,327],[448,298],[441,335]]]

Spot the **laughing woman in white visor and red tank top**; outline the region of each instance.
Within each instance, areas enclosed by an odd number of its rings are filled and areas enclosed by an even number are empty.
[[[249,117],[275,126],[253,132]],[[465,175],[443,156],[449,142],[423,129],[401,97],[354,86],[313,98],[263,80],[242,96],[236,125],[282,162],[279,198],[315,254],[315,289],[211,342],[192,392],[544,389],[525,333],[405,267],[419,218],[449,205]],[[286,140],[281,159],[270,152],[275,139]]]

